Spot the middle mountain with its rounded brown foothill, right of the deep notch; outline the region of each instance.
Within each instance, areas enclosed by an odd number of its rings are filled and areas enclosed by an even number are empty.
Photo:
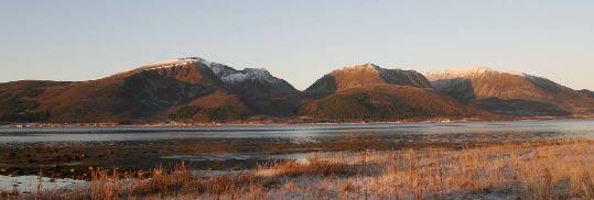
[[[309,87],[305,97],[300,115],[331,121],[494,116],[431,89],[417,71],[374,64],[334,70]]]

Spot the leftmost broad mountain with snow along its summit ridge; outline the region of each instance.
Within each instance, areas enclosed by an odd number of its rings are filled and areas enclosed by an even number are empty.
[[[0,121],[229,121],[263,109],[294,110],[299,100],[283,104],[290,98],[299,92],[266,71],[188,57],[89,81],[0,84]]]

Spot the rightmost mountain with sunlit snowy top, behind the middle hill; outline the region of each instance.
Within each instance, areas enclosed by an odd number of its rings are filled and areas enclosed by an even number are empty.
[[[510,115],[592,115],[594,101],[549,79],[488,68],[425,75],[432,86],[456,99]]]

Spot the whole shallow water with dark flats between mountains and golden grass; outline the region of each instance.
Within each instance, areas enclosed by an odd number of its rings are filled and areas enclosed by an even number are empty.
[[[150,168],[183,160],[205,170],[233,170],[250,168],[263,160],[301,159],[315,152],[382,151],[593,136],[594,121],[591,120],[208,127],[0,127],[0,151],[15,153],[3,157],[0,168],[54,164]],[[19,157],[22,154],[26,157]],[[56,159],[64,155],[85,157],[66,162]],[[25,163],[25,159],[34,162]]]

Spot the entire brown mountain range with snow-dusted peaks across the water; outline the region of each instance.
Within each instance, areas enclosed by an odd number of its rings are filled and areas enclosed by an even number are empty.
[[[183,57],[96,80],[0,84],[0,122],[588,116],[592,93],[485,67],[420,74],[371,63],[333,70],[300,91],[262,68]]]

